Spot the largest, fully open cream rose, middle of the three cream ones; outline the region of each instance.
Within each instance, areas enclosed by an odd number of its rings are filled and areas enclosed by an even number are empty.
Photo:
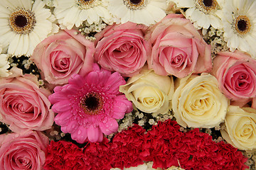
[[[210,74],[176,79],[172,97],[174,116],[179,125],[213,128],[225,118],[228,98],[218,89],[218,81]]]

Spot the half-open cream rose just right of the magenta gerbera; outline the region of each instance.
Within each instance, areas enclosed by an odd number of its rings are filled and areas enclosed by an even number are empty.
[[[155,74],[152,69],[144,67],[142,72],[129,78],[127,84],[120,86],[119,91],[125,94],[134,106],[145,113],[167,113],[171,107],[171,96],[174,94],[174,80]]]

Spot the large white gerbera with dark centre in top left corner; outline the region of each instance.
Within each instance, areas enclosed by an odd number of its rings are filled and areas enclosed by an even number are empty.
[[[3,52],[11,55],[31,55],[39,42],[51,33],[58,32],[53,23],[55,17],[44,8],[45,3],[36,0],[1,0],[0,43]]]

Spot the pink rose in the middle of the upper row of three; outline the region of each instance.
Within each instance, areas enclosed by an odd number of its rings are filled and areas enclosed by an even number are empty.
[[[139,73],[149,54],[149,44],[144,40],[146,26],[127,22],[107,26],[95,35],[95,60],[104,69],[132,77]]]

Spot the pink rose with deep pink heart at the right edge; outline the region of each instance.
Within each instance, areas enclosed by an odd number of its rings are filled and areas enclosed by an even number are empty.
[[[213,75],[227,98],[238,101],[256,96],[256,60],[243,52],[220,52],[213,60]],[[243,100],[244,101],[244,100]]]

